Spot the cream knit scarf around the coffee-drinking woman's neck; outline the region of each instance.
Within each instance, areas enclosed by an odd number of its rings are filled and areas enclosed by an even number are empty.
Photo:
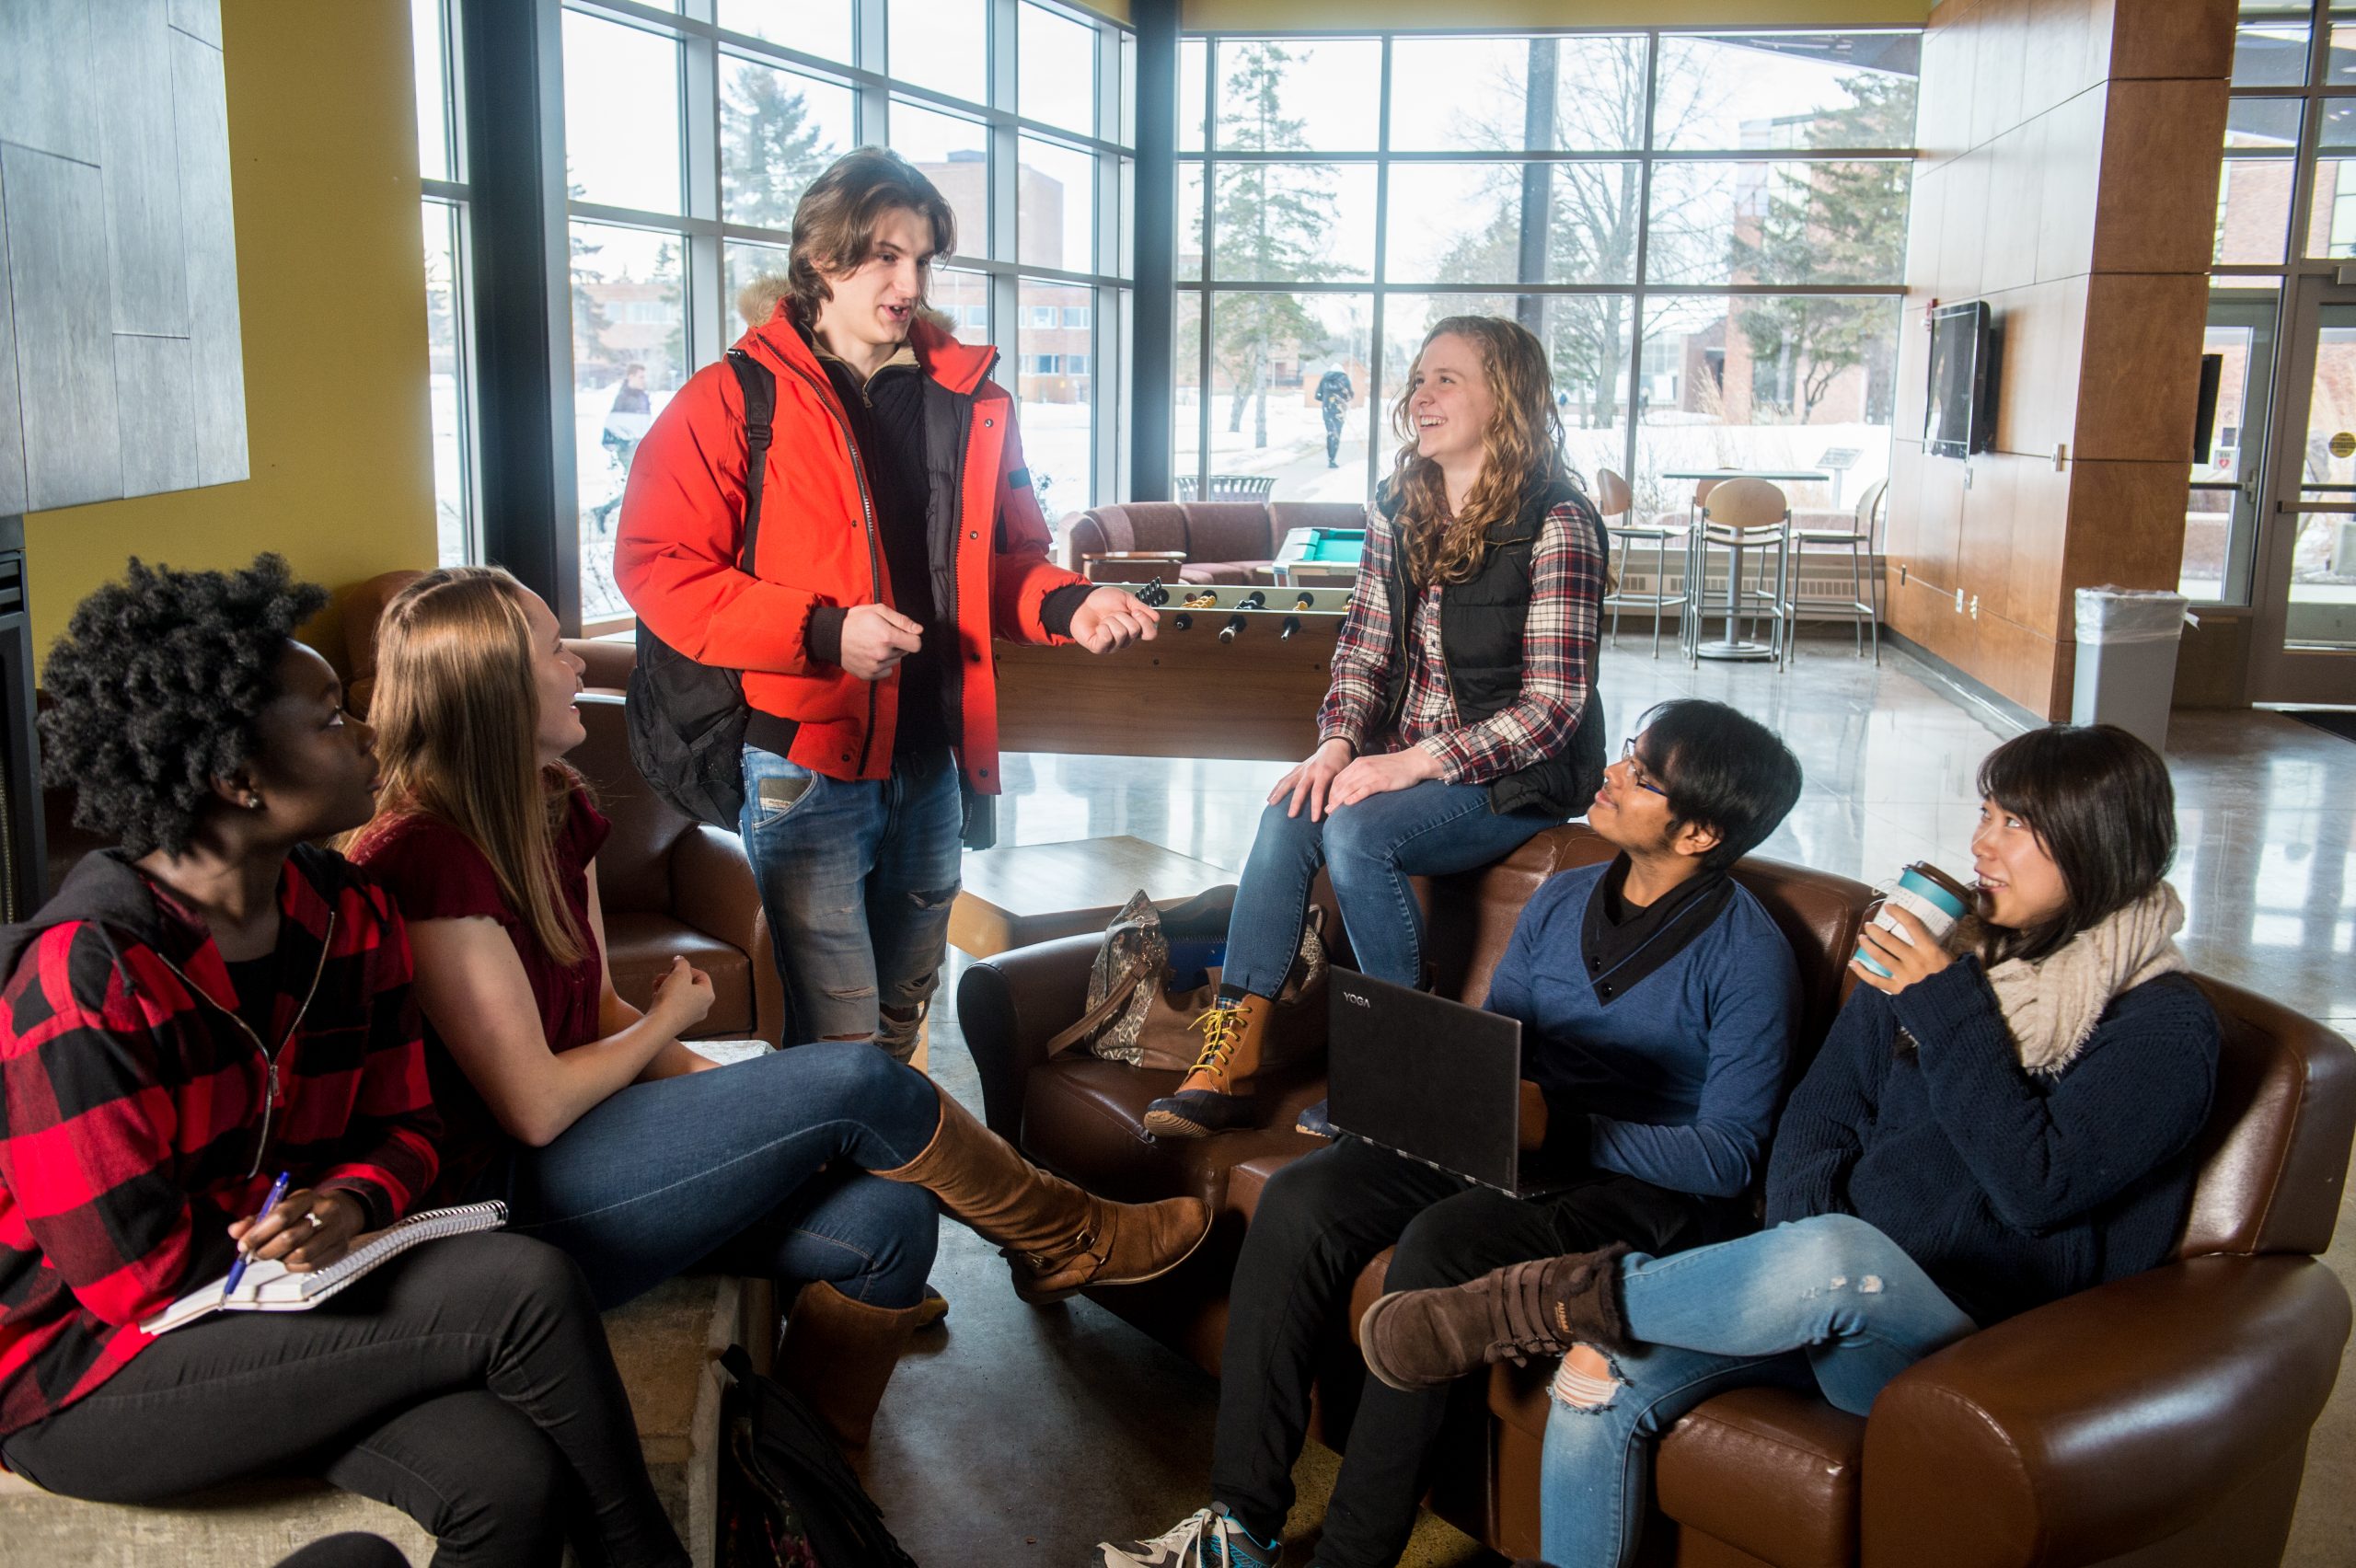
[[[1996,991],[2021,1067],[2059,1078],[2113,996],[2186,968],[2175,944],[2179,930],[2184,902],[2160,883],[2036,963],[1991,963],[1988,989]],[[1955,923],[1946,946],[1953,954],[1981,951],[1984,937],[1986,928],[1967,918]]]

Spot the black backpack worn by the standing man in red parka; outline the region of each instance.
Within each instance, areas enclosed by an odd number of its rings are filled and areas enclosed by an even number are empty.
[[[752,574],[777,377],[742,348],[728,351],[728,370],[744,391],[744,546],[737,551],[737,567]],[[742,671],[690,659],[638,622],[638,664],[629,671],[624,718],[629,760],[657,796],[688,817],[735,833],[744,810],[749,716]]]

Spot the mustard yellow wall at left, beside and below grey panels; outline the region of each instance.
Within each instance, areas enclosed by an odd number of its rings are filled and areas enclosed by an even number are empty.
[[[221,59],[252,478],[28,516],[42,652],[130,556],[278,551],[327,586],[434,565],[410,7],[224,0]]]

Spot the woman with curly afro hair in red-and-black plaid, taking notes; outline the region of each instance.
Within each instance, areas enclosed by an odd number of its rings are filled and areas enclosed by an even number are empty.
[[[335,1262],[436,1177],[441,1123],[358,826],[375,735],[292,638],[327,596],[130,563],[47,664],[52,784],[118,841],[0,932],[0,1460],[101,1502],[316,1474],[436,1563],[686,1563],[580,1271],[436,1241],[313,1311],[141,1326],[243,1253]],[[262,1210],[273,1175],[290,1191]]]

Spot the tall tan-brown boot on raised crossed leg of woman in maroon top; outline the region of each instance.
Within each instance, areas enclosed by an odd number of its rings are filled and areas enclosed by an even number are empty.
[[[999,1243],[1015,1295],[1034,1304],[1169,1274],[1211,1231],[1202,1198],[1114,1203],[1039,1170],[945,1092],[924,1154],[874,1175],[933,1189],[952,1220]]]

